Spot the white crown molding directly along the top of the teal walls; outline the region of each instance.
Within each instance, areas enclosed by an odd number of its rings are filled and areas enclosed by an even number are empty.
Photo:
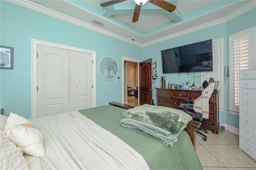
[[[32,9],[32,10],[35,10],[37,12],[41,12],[41,13],[49,15],[49,16],[53,16],[55,18],[64,20],[66,22],[70,22],[72,24],[76,24],[78,26],[82,26],[84,28],[87,28],[87,29],[99,32],[101,34],[104,34],[104,35],[107,35],[107,36],[110,36],[110,37],[122,40],[124,42],[128,42],[128,43],[132,43],[132,44],[138,45],[140,47],[145,47],[145,46],[148,46],[148,45],[152,45],[154,43],[159,43],[159,42],[162,42],[162,41],[165,41],[165,40],[169,40],[169,39],[172,39],[172,38],[175,38],[175,37],[178,37],[178,36],[182,36],[182,35],[185,35],[185,34],[196,32],[198,30],[202,30],[202,29],[205,29],[205,28],[216,26],[218,24],[225,23],[225,22],[227,22],[229,20],[232,20],[233,18],[236,18],[237,16],[239,16],[241,14],[244,14],[245,12],[247,12],[247,11],[249,11],[249,10],[251,10],[251,9],[256,7],[256,1],[252,1],[251,3],[247,4],[246,6],[243,6],[242,8],[234,11],[233,13],[229,14],[228,16],[226,16],[224,18],[220,18],[218,20],[214,20],[214,21],[211,21],[211,22],[199,25],[199,26],[195,26],[193,28],[189,28],[189,29],[186,29],[186,30],[180,31],[178,33],[171,34],[171,35],[168,35],[168,36],[165,36],[165,37],[162,37],[162,38],[158,38],[156,40],[153,40],[153,41],[150,41],[150,42],[147,42],[147,43],[138,43],[138,42],[131,42],[130,39],[125,38],[124,36],[120,36],[118,34],[115,34],[115,33],[110,32],[110,31],[106,31],[106,30],[104,30],[102,28],[98,28],[98,27],[93,26],[91,24],[88,24],[86,22],[82,22],[81,20],[77,20],[76,18],[72,18],[70,16],[66,16],[64,14],[61,14],[60,12],[56,12],[54,10],[50,10],[48,8],[45,8],[43,6],[34,4],[34,3],[32,3],[32,2],[30,2],[28,0],[22,0],[22,1],[20,1],[20,0],[6,0],[6,1],[12,2],[14,4],[17,4],[17,5],[20,5],[20,6],[29,8],[29,9]]]

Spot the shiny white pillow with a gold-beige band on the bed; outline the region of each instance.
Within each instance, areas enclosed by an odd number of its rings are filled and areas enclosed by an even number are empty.
[[[24,117],[11,113],[4,128],[6,136],[23,152],[31,156],[44,156],[44,141],[39,129]]]

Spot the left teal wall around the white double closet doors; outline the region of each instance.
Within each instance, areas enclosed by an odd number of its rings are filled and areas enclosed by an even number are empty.
[[[0,70],[4,115],[31,117],[31,39],[96,51],[97,68],[102,57],[114,57],[119,83],[102,79],[96,69],[96,106],[122,101],[122,57],[141,59],[141,47],[2,0],[0,12],[1,45],[14,47],[14,69]]]

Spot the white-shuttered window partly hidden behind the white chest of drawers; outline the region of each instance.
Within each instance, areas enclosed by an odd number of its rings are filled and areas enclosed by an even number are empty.
[[[229,36],[230,105],[229,111],[239,115],[239,71],[254,65],[255,27]]]

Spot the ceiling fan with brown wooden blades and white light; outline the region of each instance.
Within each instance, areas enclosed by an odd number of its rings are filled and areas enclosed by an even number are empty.
[[[126,0],[111,0],[105,3],[100,4],[102,7],[110,6],[117,4],[119,2],[123,2]],[[134,0],[136,2],[136,6],[134,9],[134,14],[132,18],[132,22],[137,22],[139,20],[139,15],[140,15],[140,8],[143,4],[145,4],[147,1],[150,2],[151,4],[154,4],[160,8],[163,8],[164,10],[167,10],[169,12],[172,12],[175,10],[176,6],[173,4],[170,4],[169,2],[166,2],[164,0]]]

